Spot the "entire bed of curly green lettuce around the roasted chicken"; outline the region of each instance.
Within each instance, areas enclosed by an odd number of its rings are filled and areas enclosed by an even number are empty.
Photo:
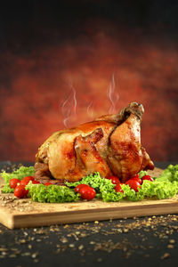
[[[3,172],[1,175],[4,178],[3,192],[12,192],[9,181],[12,178],[23,179],[25,176],[33,175],[34,167],[20,167],[18,170],[8,174]],[[142,179],[146,171],[141,171],[139,176]],[[115,184],[109,179],[101,177],[99,173],[94,173],[85,176],[79,182],[65,182],[67,186],[28,183],[26,189],[33,201],[48,202],[48,203],[63,203],[73,202],[80,199],[80,195],[75,192],[75,187],[78,184],[84,183],[96,190],[96,197],[105,202],[116,202],[122,200],[139,201],[144,198],[173,198],[178,193],[178,165],[170,165],[158,177],[154,178],[153,182],[143,181],[141,188],[135,192],[129,185],[122,184],[121,188],[124,191],[116,192]]]

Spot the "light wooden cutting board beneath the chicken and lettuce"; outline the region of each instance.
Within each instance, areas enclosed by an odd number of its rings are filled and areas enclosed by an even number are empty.
[[[150,174],[158,176],[161,172],[162,170],[155,168]],[[93,199],[53,204],[31,202],[28,198],[17,199],[13,194],[0,194],[0,223],[10,229],[176,213],[178,196],[163,200],[144,199],[139,202],[106,203]]]

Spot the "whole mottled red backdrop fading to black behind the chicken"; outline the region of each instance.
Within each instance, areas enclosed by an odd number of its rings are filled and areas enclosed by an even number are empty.
[[[34,161],[54,131],[138,101],[150,158],[177,161],[177,1],[0,5],[0,160]]]

